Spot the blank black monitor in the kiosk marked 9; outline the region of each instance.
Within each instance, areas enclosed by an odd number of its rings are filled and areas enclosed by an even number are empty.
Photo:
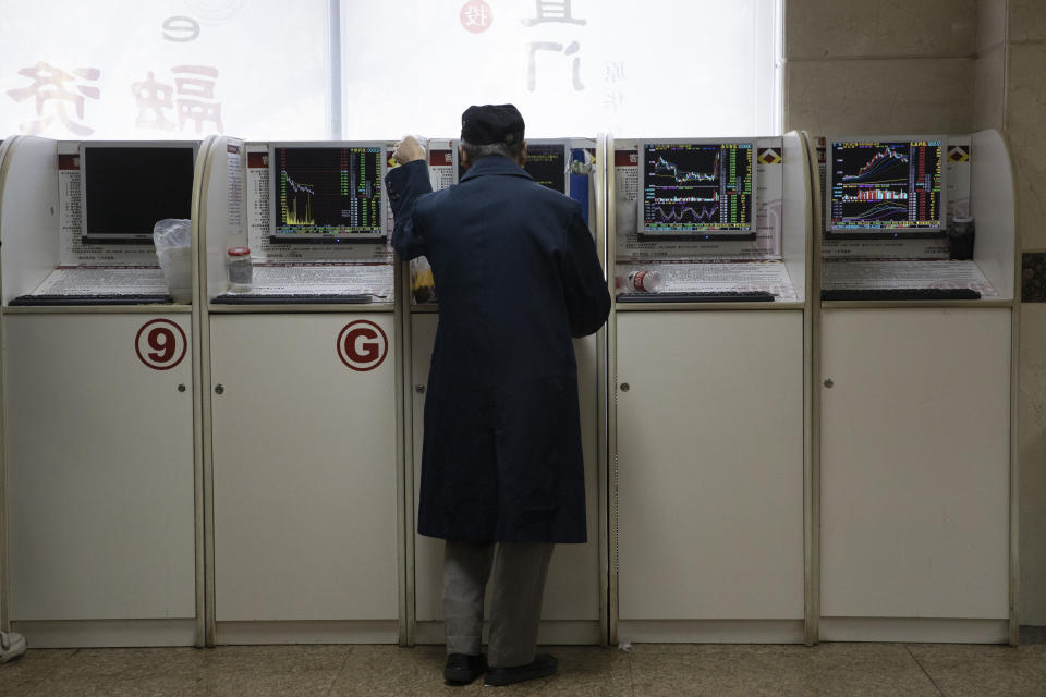
[[[84,143],[83,229],[87,244],[151,244],[165,218],[190,218],[197,143]]]

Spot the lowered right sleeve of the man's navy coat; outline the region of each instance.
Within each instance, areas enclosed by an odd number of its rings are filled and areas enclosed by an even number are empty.
[[[558,257],[572,337],[598,331],[610,314],[610,292],[599,267],[592,233],[580,210],[572,210]]]

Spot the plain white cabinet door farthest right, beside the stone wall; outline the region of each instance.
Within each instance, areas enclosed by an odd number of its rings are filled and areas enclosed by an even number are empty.
[[[824,313],[822,614],[1005,619],[1010,310]]]

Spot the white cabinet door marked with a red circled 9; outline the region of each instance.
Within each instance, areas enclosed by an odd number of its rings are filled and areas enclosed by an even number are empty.
[[[194,617],[188,315],[4,322],[11,619]]]

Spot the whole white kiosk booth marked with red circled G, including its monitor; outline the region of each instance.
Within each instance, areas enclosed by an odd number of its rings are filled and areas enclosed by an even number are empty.
[[[404,636],[387,156],[220,137],[205,163],[209,645]]]

